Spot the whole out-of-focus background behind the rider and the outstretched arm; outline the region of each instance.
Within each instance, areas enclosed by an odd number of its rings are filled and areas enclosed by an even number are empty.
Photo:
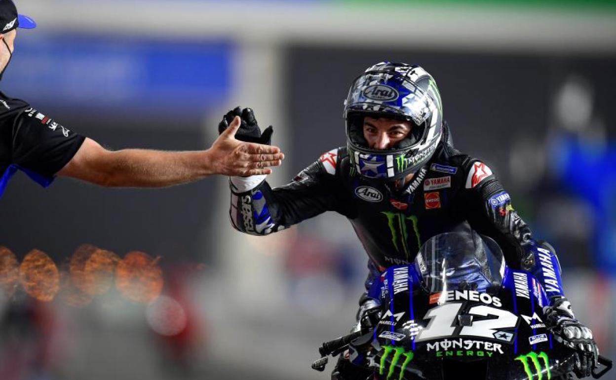
[[[17,6],[38,28],[18,31],[7,95],[113,149],[206,148],[227,110],[253,107],[286,153],[272,185],[345,144],[342,101],[365,68],[422,65],[456,147],[556,247],[575,312],[614,358],[616,2]],[[224,177],[110,190],[15,176],[0,199],[0,378],[328,379],[333,364],[310,364],[351,328],[366,275],[351,226],[325,214],[257,238],[228,206]]]

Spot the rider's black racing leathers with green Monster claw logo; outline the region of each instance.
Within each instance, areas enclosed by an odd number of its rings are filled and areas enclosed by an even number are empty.
[[[499,243],[510,267],[532,272],[548,299],[562,295],[556,256],[533,240],[492,171],[446,142],[401,190],[359,176],[346,148],[323,154],[282,187],[263,181],[238,193],[230,182],[230,217],[241,232],[265,235],[325,211],[346,216],[370,257],[367,288],[384,268],[413,262],[432,236],[472,228]]]

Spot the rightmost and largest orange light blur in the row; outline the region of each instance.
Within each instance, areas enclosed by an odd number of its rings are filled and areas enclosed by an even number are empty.
[[[131,251],[118,262],[116,288],[124,297],[149,303],[155,301],[163,290],[163,271],[158,260],[140,251]]]

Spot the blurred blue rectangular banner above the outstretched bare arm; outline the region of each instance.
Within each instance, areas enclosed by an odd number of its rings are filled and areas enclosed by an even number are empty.
[[[35,107],[195,116],[229,98],[234,48],[228,41],[23,32],[0,88]]]

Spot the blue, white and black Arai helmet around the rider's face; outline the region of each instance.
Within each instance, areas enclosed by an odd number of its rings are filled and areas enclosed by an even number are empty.
[[[391,118],[413,124],[408,136],[387,150],[363,137],[363,118]],[[434,78],[407,63],[380,62],[356,78],[344,102],[347,148],[363,177],[397,180],[428,163],[443,135],[443,109]]]

